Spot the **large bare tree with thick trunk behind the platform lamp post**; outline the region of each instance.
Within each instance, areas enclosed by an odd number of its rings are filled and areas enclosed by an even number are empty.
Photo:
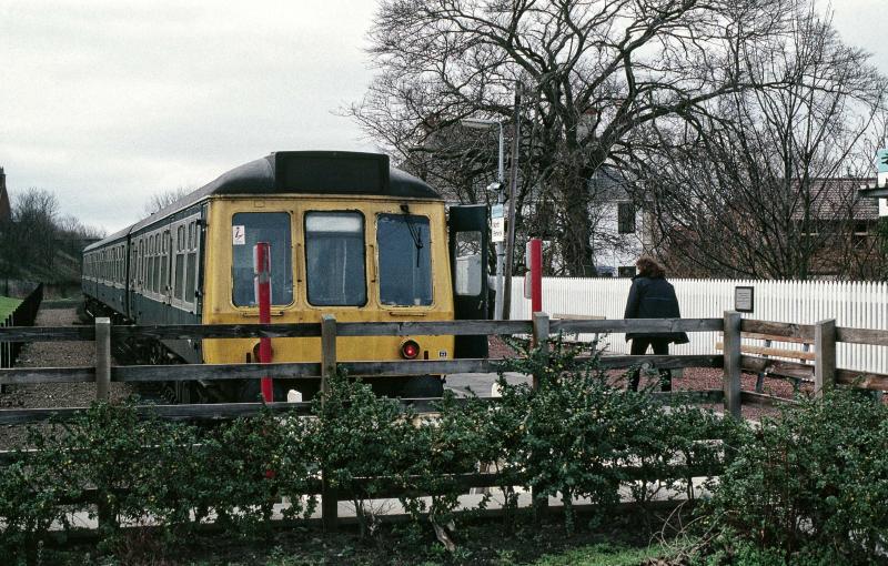
[[[645,124],[763,87],[745,59],[788,29],[791,1],[383,0],[370,34],[380,72],[350,113],[462,198],[492,178],[495,149],[442,132],[509,121],[519,89],[519,198],[551,206],[565,271],[592,274],[593,173],[632,160]]]

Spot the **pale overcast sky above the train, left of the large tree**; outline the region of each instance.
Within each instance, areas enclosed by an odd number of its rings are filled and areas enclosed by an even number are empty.
[[[888,2],[836,0],[888,73]],[[373,151],[335,111],[363,94],[375,0],[0,0],[0,166],[117,231],[151,194],[276,150]]]

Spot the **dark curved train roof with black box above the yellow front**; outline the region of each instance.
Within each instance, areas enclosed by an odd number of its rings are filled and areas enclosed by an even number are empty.
[[[169,206],[88,246],[125,237],[212,195],[382,195],[443,200],[425,181],[391,166],[389,155],[353,151],[276,151],[223,173]]]

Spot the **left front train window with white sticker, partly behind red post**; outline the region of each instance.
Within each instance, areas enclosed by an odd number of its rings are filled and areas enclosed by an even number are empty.
[[[235,306],[255,306],[253,287],[253,246],[271,245],[271,302],[293,302],[293,263],[290,214],[286,212],[239,212],[231,220],[232,291]]]

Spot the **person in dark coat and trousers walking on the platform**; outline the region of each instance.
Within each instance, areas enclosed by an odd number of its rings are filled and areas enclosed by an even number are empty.
[[[680,319],[678,299],[675,287],[666,281],[666,272],[653,257],[643,256],[635,262],[638,274],[632,279],[629,297],[626,301],[625,319]],[[645,355],[647,347],[654,348],[655,355],[668,355],[669,343],[687,344],[684,332],[629,332],[626,341],[632,340],[629,353],[634,356]],[[640,368],[629,371],[629,388],[638,391]],[[673,376],[669,370],[659,371],[662,391],[672,391]]]

